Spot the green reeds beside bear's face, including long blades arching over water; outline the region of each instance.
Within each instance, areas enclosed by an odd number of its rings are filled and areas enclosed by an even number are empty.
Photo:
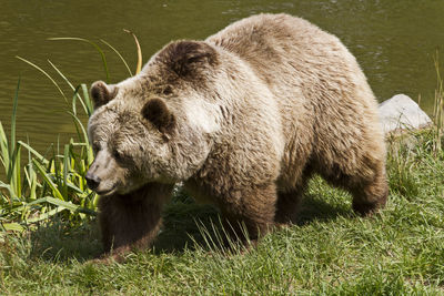
[[[137,37],[138,65],[135,73],[141,70],[141,50]],[[94,42],[82,38],[53,38],[50,40],[88,42],[100,53],[107,81],[110,79],[104,51]],[[132,75],[127,61],[120,52],[110,43],[101,40],[114,53],[119,55]],[[0,181],[0,235],[12,231],[20,232],[28,226],[59,215],[65,221],[79,222],[95,215],[98,196],[91,192],[84,181],[84,175],[93,161],[92,149],[88,140],[87,129],[80,120],[80,113],[87,116],[92,114],[92,102],[85,84],[74,86],[68,78],[50,60],[48,63],[56,70],[60,78],[72,91],[69,100],[62,86],[44,71],[31,61],[17,57],[46,75],[59,90],[67,102],[68,113],[73,120],[77,130],[77,139],[71,137],[63,145],[52,145],[52,154],[43,156],[28,142],[17,141],[16,123],[19,103],[20,80],[18,81],[13,98],[13,110],[9,136],[0,122],[0,161],[4,167],[6,180]],[[23,157],[24,156],[24,157]]]

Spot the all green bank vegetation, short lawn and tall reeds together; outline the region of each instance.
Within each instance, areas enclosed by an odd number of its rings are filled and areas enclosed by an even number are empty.
[[[255,248],[226,251],[218,212],[178,187],[154,247],[103,265],[91,262],[101,252],[97,196],[83,180],[92,154],[78,118],[78,108],[91,114],[91,102],[85,85],[74,88],[49,63],[73,90],[69,101],[56,83],[78,139],[50,156],[17,141],[18,83],[9,136],[0,124],[7,176],[0,183],[0,294],[444,294],[442,82],[436,125],[390,139],[390,198],[374,216],[354,215],[347,193],[314,177],[295,225],[268,234]]]

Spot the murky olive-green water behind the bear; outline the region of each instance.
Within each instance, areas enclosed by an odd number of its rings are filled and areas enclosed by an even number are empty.
[[[356,55],[380,101],[406,93],[431,113],[436,84],[433,57],[444,45],[444,1],[438,0],[301,0],[301,1],[6,1],[0,0],[0,121],[9,130],[12,98],[21,76],[18,134],[44,151],[74,133],[67,103],[23,57],[72,92],[48,63],[53,62],[74,84],[104,80],[100,55],[87,43],[48,41],[81,37],[107,53],[111,82],[128,76],[104,39],[135,68],[132,38],[139,38],[145,62],[174,39],[204,39],[226,24],[259,12],[303,17],[336,34]],[[444,52],[442,53],[444,60]],[[133,70],[133,69],[132,69]],[[85,119],[83,119],[85,120]]]

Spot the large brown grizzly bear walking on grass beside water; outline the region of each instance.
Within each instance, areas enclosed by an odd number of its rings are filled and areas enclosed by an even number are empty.
[[[142,71],[91,88],[85,176],[104,252],[150,245],[174,184],[250,239],[294,220],[319,174],[369,215],[387,197],[377,103],[341,41],[287,14],[175,41]]]

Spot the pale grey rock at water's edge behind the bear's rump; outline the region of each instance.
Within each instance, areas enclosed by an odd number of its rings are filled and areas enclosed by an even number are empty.
[[[380,104],[380,118],[384,133],[417,130],[432,125],[432,120],[407,95],[396,94]]]

